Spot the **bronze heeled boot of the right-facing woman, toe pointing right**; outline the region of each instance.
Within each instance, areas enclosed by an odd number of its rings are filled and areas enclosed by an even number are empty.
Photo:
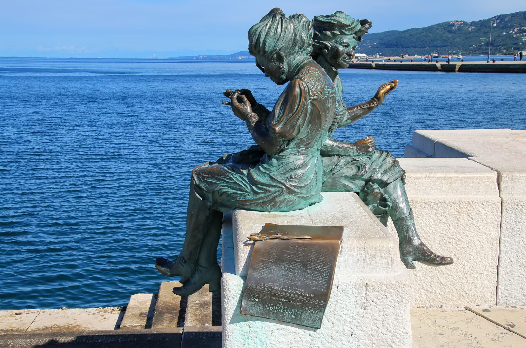
[[[414,227],[413,209],[409,215],[393,221],[395,224],[400,248],[400,259],[406,268],[415,268],[413,261],[424,263],[428,266],[446,266],[453,263],[450,257],[434,254],[420,239],[417,229]]]

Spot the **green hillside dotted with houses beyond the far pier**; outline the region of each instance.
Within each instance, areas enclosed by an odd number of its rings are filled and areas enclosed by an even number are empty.
[[[526,50],[526,11],[498,15],[491,33],[491,54]],[[488,54],[490,18],[467,22],[451,20],[424,28],[389,30],[363,36],[357,53],[382,56],[439,54]]]

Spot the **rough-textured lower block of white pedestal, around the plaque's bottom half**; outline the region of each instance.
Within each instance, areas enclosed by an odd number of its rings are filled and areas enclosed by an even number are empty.
[[[406,278],[406,279],[403,279]],[[411,347],[407,276],[335,277],[320,329],[240,314],[243,278],[223,273],[223,346]]]

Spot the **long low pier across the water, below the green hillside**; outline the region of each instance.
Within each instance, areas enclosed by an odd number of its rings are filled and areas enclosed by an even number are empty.
[[[526,73],[526,60],[522,61],[451,61],[428,63],[409,61],[382,62],[373,59],[374,62],[360,62],[349,65],[349,69],[376,69],[376,70],[408,70],[408,71],[445,71],[445,72],[522,72]]]

